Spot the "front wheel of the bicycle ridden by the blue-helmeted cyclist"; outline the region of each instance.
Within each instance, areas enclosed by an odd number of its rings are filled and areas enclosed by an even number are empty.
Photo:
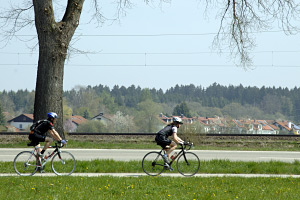
[[[56,175],[71,175],[76,168],[74,156],[67,151],[56,153],[51,160],[51,168]]]

